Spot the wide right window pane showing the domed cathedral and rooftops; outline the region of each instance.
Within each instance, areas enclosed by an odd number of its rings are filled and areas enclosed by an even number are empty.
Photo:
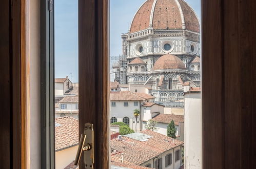
[[[200,11],[201,0],[110,0],[110,117],[122,137],[111,140],[112,167],[201,167]]]

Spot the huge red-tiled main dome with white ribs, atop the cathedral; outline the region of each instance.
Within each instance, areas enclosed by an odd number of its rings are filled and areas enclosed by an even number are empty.
[[[134,15],[130,33],[148,28],[200,32],[199,20],[184,0],[147,0]]]

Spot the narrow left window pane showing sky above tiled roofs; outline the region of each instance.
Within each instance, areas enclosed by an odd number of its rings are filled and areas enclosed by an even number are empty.
[[[54,0],[55,168],[73,168],[78,147],[78,1]]]

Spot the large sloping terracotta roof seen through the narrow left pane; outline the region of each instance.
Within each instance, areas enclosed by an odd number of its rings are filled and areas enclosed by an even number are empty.
[[[55,151],[78,144],[78,120],[71,116],[55,119]]]

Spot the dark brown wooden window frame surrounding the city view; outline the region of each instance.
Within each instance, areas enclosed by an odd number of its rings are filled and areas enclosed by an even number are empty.
[[[28,160],[24,144],[26,121],[23,118],[26,108],[24,94],[27,90],[24,85],[28,84],[25,80],[24,51],[26,6],[24,0],[10,2],[3,0],[0,6],[0,11],[5,13],[0,15],[1,23],[5,23],[0,28],[1,40],[5,40],[1,41],[0,48],[0,59],[5,63],[1,65],[3,71],[0,72],[3,77],[0,86],[5,89],[0,95],[5,112],[1,118],[0,132],[6,136],[0,140],[0,145],[5,145],[0,147],[1,152],[5,152],[1,156],[1,165],[3,168],[25,168]],[[101,150],[96,152],[96,158],[102,163],[97,163],[96,168],[108,168],[108,1],[79,2],[80,16],[87,20],[80,25],[87,31],[80,37],[80,44],[86,43],[83,39],[91,42],[85,49],[80,49],[80,53],[95,56],[86,57],[94,65],[85,69],[92,73],[87,76],[98,82],[96,89],[99,91],[92,96],[92,100],[101,100],[97,103],[97,109],[91,108],[91,105],[81,105],[80,108],[88,107],[87,111],[101,112],[98,119],[91,121],[101,131],[96,136]],[[256,130],[253,121],[256,119],[255,11],[254,0],[202,1],[203,168],[253,168],[256,165]],[[45,22],[45,16],[42,16],[41,23]],[[45,29],[42,25],[41,28]],[[96,50],[96,45],[99,50]],[[81,64],[86,65],[86,62],[82,61]],[[85,90],[82,92],[91,94]],[[85,120],[84,117],[80,119]],[[80,133],[82,131],[83,127]]]

